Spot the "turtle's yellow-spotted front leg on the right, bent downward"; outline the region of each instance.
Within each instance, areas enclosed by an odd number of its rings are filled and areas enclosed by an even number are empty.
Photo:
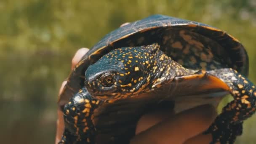
[[[222,113],[205,133],[212,133],[211,144],[233,144],[236,136],[242,134],[243,120],[255,113],[255,85],[233,69],[218,69],[209,73],[227,83],[234,100],[222,109]]]

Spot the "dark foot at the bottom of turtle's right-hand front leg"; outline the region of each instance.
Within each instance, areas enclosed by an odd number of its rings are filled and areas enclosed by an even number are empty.
[[[234,144],[237,136],[243,133],[243,123],[229,123],[224,120],[216,119],[205,134],[212,134],[212,142],[210,144]]]

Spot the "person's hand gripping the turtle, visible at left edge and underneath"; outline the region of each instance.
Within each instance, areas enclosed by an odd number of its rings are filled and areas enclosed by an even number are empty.
[[[71,69],[74,69],[87,52],[88,48],[80,48],[75,53]],[[59,93],[66,83],[67,81],[62,83]],[[188,109],[179,114],[175,114],[171,109],[157,109],[139,119],[136,135],[131,139],[130,144],[209,144],[212,139],[211,134],[204,135],[203,131],[213,123],[216,116],[215,108],[210,105]],[[60,141],[63,131],[63,113],[58,108],[55,144]]]

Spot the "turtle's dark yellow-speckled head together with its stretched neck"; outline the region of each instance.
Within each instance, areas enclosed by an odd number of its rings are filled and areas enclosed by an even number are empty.
[[[98,99],[112,102],[152,90],[175,76],[192,72],[195,70],[185,69],[160,51],[158,44],[118,48],[88,67],[85,87]],[[106,75],[115,79],[113,85],[105,82]]]

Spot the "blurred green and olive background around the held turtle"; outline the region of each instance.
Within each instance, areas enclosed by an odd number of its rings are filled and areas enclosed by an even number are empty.
[[[256,83],[256,0],[0,0],[0,143],[53,144],[57,94],[75,51],[155,13],[238,38]],[[255,120],[245,122],[236,144],[256,144]]]

